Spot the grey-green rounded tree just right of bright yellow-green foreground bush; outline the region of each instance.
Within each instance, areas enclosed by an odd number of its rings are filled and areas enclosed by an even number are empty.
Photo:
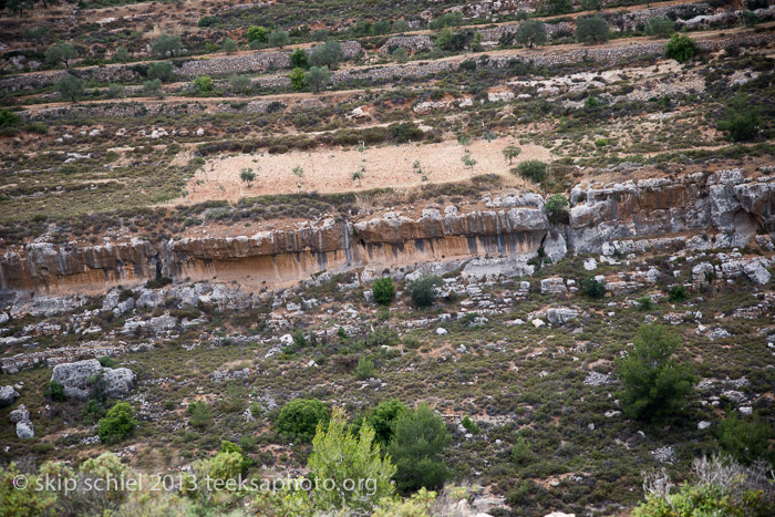
[[[448,477],[441,455],[452,441],[442,417],[421,404],[396,418],[393,433],[388,452],[397,467],[399,490],[405,494],[421,487],[441,488]]]

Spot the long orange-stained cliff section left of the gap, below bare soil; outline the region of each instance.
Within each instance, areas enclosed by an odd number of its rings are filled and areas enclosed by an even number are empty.
[[[538,199],[536,199],[538,198]],[[485,255],[531,255],[549,231],[538,196],[534,206],[457,214],[448,207],[413,219],[399,213],[352,223],[326,219],[252,236],[200,237],[79,247],[32,244],[7,250],[0,289],[46,293],[101,292],[157,275],[237,280],[248,288],[293,282],[323,270]]]

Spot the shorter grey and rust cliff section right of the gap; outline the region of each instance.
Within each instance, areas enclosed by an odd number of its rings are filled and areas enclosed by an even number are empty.
[[[597,252],[611,240],[709,228],[725,236],[711,246],[745,246],[760,227],[775,231],[775,182],[747,182],[737,169],[576,187],[570,203],[568,239],[576,252]]]

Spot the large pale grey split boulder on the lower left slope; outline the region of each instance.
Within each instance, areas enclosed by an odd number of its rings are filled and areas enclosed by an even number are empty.
[[[132,370],[103,368],[96,359],[58,364],[54,366],[51,382],[62,384],[64,396],[86,400],[91,395],[94,375],[100,373],[105,383],[105,394],[111,397],[126,395],[136,384],[136,376]]]

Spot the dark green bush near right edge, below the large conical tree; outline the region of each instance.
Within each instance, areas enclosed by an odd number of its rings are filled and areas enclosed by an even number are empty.
[[[719,423],[717,433],[724,449],[744,465],[765,458],[773,435],[769,425],[758,415],[744,420],[733,412]]]

